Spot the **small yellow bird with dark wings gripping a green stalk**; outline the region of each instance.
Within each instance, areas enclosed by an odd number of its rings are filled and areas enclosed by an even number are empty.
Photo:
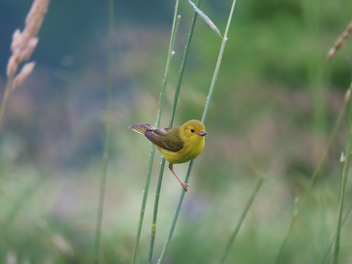
[[[150,124],[128,126],[131,130],[146,136],[169,162],[169,169],[187,191],[188,184],[177,177],[172,165],[185,163],[196,158],[204,149],[204,137],[208,136],[201,121],[189,120],[182,126],[156,128]]]

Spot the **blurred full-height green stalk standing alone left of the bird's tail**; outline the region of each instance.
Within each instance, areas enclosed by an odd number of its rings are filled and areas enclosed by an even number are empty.
[[[95,239],[94,239],[94,263],[99,262],[99,248],[101,239],[101,220],[103,215],[106,172],[109,157],[109,139],[111,127],[111,94],[113,77],[113,45],[114,45],[114,0],[108,0],[108,19],[109,19],[109,50],[108,50],[108,75],[107,75],[107,99],[105,116],[105,142],[103,151],[103,162],[100,176],[99,204],[96,217]]]

